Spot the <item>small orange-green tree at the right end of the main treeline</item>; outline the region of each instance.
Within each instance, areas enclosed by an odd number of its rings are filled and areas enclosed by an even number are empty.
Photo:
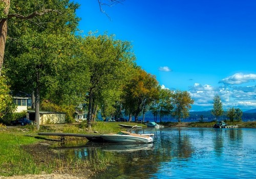
[[[188,92],[179,90],[174,92],[171,101],[174,107],[172,111],[173,117],[178,118],[178,121],[181,122],[181,118],[189,116],[190,104],[194,104],[194,100],[191,99]]]

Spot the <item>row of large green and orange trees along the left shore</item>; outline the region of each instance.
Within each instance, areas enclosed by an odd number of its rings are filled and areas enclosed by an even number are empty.
[[[129,41],[80,35],[78,7],[68,0],[11,1],[0,118],[8,120],[14,111],[10,91],[31,94],[38,128],[39,110],[65,112],[72,122],[79,104],[88,112],[89,128],[98,112],[103,118],[127,115],[135,121],[149,110],[155,119],[186,118],[194,102],[189,94],[161,89],[156,77],[136,64]]]

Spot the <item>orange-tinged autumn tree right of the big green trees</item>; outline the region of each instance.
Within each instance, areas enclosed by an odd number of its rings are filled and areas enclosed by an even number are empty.
[[[124,87],[124,108],[135,117],[138,117],[146,106],[150,105],[159,96],[159,85],[154,75],[146,73],[140,68],[129,84]]]

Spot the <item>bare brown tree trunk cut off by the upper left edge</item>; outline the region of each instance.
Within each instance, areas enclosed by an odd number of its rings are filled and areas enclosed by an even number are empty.
[[[2,0],[6,4],[4,14],[8,15],[10,8],[10,0]],[[2,67],[4,63],[4,54],[5,54],[5,44],[7,37],[7,19],[0,19],[0,76],[2,72]]]

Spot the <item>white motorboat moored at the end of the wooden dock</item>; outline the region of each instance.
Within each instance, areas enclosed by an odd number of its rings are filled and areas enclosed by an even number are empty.
[[[131,133],[126,131],[120,131],[118,133],[110,133],[100,136],[106,142],[115,143],[151,143],[153,138],[149,136],[139,135],[137,133]]]

